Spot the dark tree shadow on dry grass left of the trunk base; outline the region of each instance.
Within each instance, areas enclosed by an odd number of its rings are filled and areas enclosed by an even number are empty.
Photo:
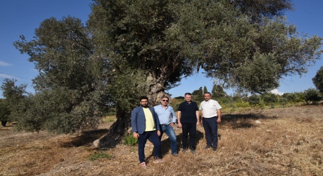
[[[63,143],[62,147],[91,146],[94,140],[98,139],[107,132],[109,132],[109,129],[84,131],[80,135],[74,137],[71,141]]]

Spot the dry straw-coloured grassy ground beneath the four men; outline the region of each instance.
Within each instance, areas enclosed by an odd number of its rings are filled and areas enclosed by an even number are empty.
[[[257,124],[258,120],[261,123]],[[197,129],[196,153],[170,154],[162,141],[164,163],[139,166],[137,147],[123,144],[104,150],[111,159],[89,160],[90,144],[113,122],[82,135],[17,132],[0,128],[0,175],[323,175],[323,107],[296,106],[223,114],[218,151],[203,149],[203,127]],[[181,129],[176,128],[179,143]]]

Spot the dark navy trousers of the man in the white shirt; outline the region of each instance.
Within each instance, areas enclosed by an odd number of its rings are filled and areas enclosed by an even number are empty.
[[[204,118],[203,117],[203,127],[206,137],[206,145],[213,146],[213,148],[218,147],[218,117]]]

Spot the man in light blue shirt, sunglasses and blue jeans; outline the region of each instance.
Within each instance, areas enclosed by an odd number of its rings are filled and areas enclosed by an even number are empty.
[[[161,97],[161,101],[160,101],[161,104],[153,108],[156,114],[158,115],[158,119],[159,119],[159,128],[160,128],[159,141],[161,141],[161,136],[163,136],[163,133],[166,133],[171,140],[172,155],[176,156],[177,139],[176,139],[175,131],[173,129],[173,126],[175,125],[175,122],[176,122],[176,115],[173,107],[169,106],[168,102],[169,102],[169,97],[163,96]]]

